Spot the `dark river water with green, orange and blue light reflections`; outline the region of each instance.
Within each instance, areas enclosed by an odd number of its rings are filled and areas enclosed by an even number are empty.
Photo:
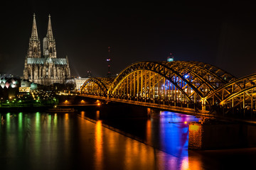
[[[255,169],[256,149],[188,150],[192,115],[0,113],[0,169]],[[110,125],[110,126],[108,126]],[[114,128],[113,128],[114,127]]]

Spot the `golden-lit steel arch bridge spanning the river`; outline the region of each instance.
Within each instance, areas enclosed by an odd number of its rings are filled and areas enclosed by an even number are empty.
[[[136,62],[115,78],[91,78],[81,94],[212,111],[256,110],[256,74],[236,79],[203,62]]]

